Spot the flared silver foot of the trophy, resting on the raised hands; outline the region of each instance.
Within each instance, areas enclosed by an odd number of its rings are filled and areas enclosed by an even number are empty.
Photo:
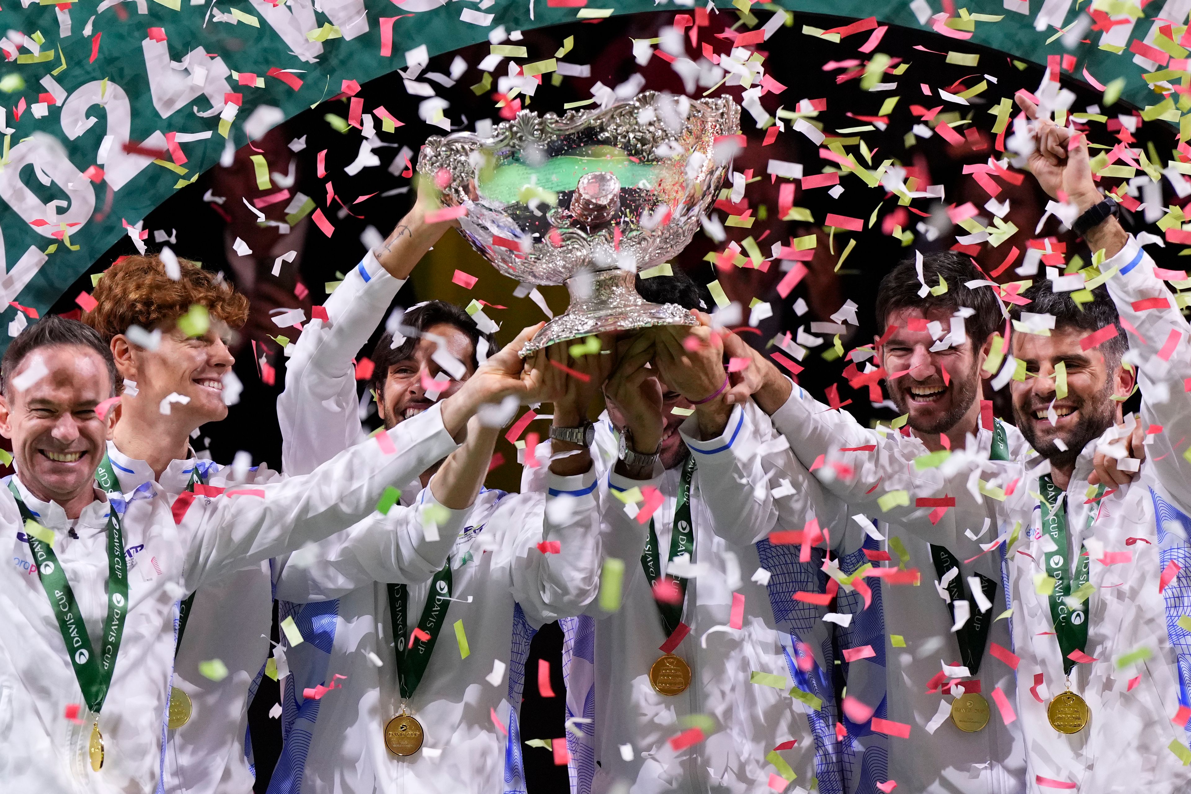
[[[611,331],[636,331],[655,325],[694,325],[678,304],[650,304],[637,294],[636,274],[600,270],[567,279],[570,306],[554,318],[520,350],[522,358],[559,342]]]

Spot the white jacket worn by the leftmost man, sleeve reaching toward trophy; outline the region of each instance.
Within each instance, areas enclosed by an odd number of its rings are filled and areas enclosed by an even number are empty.
[[[406,481],[457,446],[437,407],[393,429],[389,438],[399,454],[362,444],[311,477],[199,496],[180,524],[168,494],[123,502],[125,548],[138,549],[133,556],[139,559],[129,576],[129,614],[100,718],[106,759],[99,773],[86,759],[93,715],[83,707],[81,724],[64,717],[68,705],[83,702],[82,693],[45,592],[36,571],[31,575],[32,555],[15,500],[5,489],[0,525],[12,538],[13,561],[7,574],[0,573],[0,611],[13,621],[0,637],[0,774],[6,790],[152,792],[161,774],[180,595],[350,526],[373,511],[388,484]],[[108,502],[88,505],[73,538],[60,506],[27,494],[25,500],[56,533],[55,552],[88,633],[98,637],[107,611]]]

